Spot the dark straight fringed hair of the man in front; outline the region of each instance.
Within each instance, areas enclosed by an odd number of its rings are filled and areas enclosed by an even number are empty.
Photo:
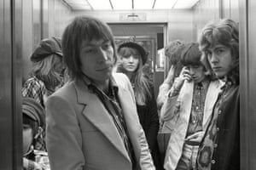
[[[71,79],[83,76],[79,54],[84,41],[109,40],[113,47],[114,64],[117,60],[113,33],[102,20],[86,15],[78,16],[65,28],[61,39],[64,63]]]

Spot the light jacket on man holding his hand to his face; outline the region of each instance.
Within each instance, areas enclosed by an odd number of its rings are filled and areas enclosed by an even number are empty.
[[[194,85],[194,82],[185,81],[177,97],[167,98],[162,108],[161,114],[169,114],[169,117],[171,117],[169,128],[173,130],[166,149],[164,161],[166,170],[175,170],[177,162],[182,156],[184,139],[189,126]],[[212,109],[218,99],[218,94],[222,86],[223,84],[218,82],[218,80],[212,81],[209,84],[204,105],[203,131],[206,130],[211,120]]]

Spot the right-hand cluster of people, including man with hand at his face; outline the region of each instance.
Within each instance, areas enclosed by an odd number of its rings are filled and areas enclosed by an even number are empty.
[[[158,97],[160,131],[171,133],[164,168],[240,169],[236,22],[209,23],[202,29],[199,42],[177,41],[166,51],[170,49],[170,61],[177,59],[177,54],[179,59],[171,62],[160,86],[163,95]]]

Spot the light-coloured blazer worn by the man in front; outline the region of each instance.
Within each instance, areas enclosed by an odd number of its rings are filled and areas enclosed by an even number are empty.
[[[114,74],[113,78],[119,85],[119,101],[135,152],[136,169],[154,170],[138,120],[131,83],[121,73]],[[132,169],[131,159],[112,117],[83,82],[69,82],[49,97],[46,123],[51,170]]]

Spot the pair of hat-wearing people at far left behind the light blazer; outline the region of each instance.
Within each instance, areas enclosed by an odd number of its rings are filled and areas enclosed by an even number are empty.
[[[49,95],[64,84],[61,38],[42,40],[30,57],[32,70],[23,83],[23,167],[49,170],[45,144],[45,103]]]

